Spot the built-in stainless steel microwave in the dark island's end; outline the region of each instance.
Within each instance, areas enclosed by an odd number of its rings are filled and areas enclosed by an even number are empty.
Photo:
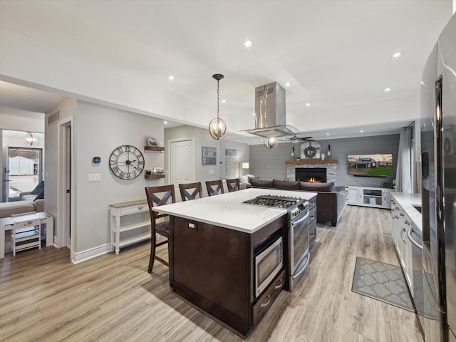
[[[255,296],[259,296],[284,266],[282,237],[255,257]]]

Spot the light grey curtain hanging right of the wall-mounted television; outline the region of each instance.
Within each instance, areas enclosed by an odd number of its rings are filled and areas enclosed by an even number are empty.
[[[415,153],[413,153],[415,155]],[[403,128],[399,135],[398,166],[396,167],[397,192],[413,192],[412,184],[412,131]],[[413,158],[415,160],[415,158]]]

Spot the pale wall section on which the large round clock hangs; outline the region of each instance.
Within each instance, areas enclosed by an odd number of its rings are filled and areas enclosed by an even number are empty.
[[[142,151],[145,168],[163,165],[163,154],[144,152],[145,138],[163,140],[162,120],[78,101],[75,120],[76,227],[75,252],[110,243],[109,204],[145,199],[146,186],[162,185],[163,180],[145,180],[144,172],[135,180],[115,177],[109,168],[111,152],[120,145],[133,145]],[[94,165],[92,158],[101,157]],[[100,173],[101,182],[88,182],[89,173]]]

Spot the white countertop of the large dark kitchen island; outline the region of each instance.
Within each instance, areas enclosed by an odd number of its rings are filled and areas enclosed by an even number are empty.
[[[274,219],[286,214],[286,209],[242,204],[247,199],[259,195],[281,195],[311,199],[316,196],[316,192],[251,188],[186,202],[161,205],[154,207],[153,210],[252,234],[266,224],[273,222]]]

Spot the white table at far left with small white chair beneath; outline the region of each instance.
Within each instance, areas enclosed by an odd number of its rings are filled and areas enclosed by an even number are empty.
[[[46,247],[53,245],[54,218],[47,212],[35,212],[15,217],[3,217],[0,219],[0,259],[5,257],[5,232],[13,229],[14,222],[41,219],[41,224],[46,224]]]

